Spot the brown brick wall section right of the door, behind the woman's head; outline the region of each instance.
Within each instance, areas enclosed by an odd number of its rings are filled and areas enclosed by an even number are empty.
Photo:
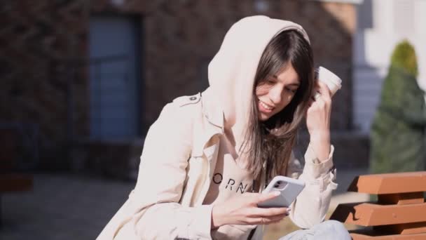
[[[317,1],[269,1],[273,18],[298,22],[310,35],[315,62],[338,73],[344,83],[334,101],[333,127],[351,126],[352,34],[355,7]],[[259,14],[253,1],[186,1],[162,4],[146,16],[146,124],[156,119],[165,102],[200,91],[202,62],[219,50],[231,25]],[[196,24],[194,24],[196,22]],[[172,76],[173,81],[170,81]],[[156,99],[154,101],[154,99]]]

